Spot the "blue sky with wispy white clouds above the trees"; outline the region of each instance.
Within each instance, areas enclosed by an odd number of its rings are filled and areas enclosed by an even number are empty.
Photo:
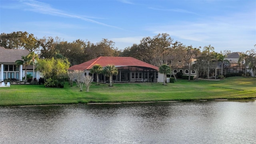
[[[245,52],[256,44],[256,0],[0,0],[0,33],[27,31],[124,49],[168,33],[187,46]]]

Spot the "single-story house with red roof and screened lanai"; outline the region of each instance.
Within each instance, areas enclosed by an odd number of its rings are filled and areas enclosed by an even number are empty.
[[[90,69],[94,64],[100,64],[103,68],[108,64],[118,69],[118,75],[113,76],[114,82],[163,82],[163,74],[158,73],[158,67],[142,62],[132,57],[110,57],[100,56],[82,64],[71,66],[68,70],[82,70],[84,75],[93,76],[96,81],[96,74],[91,74]],[[100,82],[108,82],[103,74],[99,75]]]

